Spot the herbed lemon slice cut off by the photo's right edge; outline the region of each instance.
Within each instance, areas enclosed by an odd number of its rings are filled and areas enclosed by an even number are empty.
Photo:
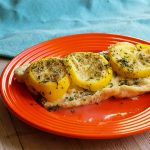
[[[150,76],[150,46],[120,42],[109,49],[110,63],[119,75],[129,78]]]

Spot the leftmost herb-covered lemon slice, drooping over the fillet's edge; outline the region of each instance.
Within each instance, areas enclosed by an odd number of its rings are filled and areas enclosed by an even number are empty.
[[[25,71],[24,80],[31,92],[40,93],[51,102],[59,100],[70,85],[64,64],[58,58],[33,62]]]

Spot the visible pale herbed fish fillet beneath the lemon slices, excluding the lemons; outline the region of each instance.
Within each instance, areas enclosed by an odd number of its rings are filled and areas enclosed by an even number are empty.
[[[19,82],[23,82],[25,70],[30,64],[18,67],[15,71],[15,77]],[[121,81],[121,82],[120,82]],[[112,86],[113,85],[113,86]],[[100,103],[110,97],[128,98],[135,97],[150,92],[150,77],[140,79],[125,79],[120,76],[113,76],[111,83],[97,92],[89,92],[79,87],[71,88],[59,102],[48,102],[41,100],[45,108],[60,106],[64,108]],[[76,98],[75,98],[76,97]]]

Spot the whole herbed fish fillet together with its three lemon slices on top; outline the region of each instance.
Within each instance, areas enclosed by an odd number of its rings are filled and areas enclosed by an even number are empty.
[[[119,42],[100,53],[75,52],[18,67],[46,109],[100,103],[110,97],[134,97],[150,91],[150,45]]]

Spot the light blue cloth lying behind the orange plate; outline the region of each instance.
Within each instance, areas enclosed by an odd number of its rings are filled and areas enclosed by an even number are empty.
[[[0,56],[86,32],[150,40],[149,0],[0,0]]]

